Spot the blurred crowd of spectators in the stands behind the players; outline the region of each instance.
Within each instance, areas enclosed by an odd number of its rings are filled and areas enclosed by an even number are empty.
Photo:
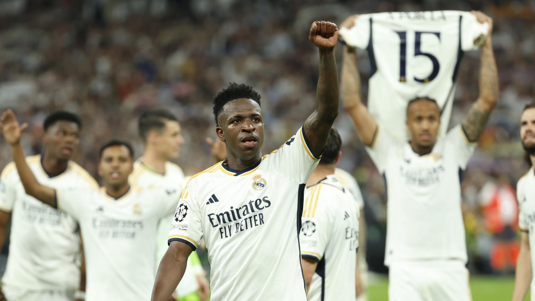
[[[516,181],[528,164],[518,140],[522,107],[534,95],[535,7],[525,1],[334,0],[2,0],[0,109],[29,122],[27,153],[42,151],[42,121],[55,110],[81,115],[78,161],[96,175],[98,146],[119,137],[135,144],[137,115],[149,106],[177,114],[186,144],[177,163],[187,174],[212,165],[212,97],[228,82],[262,95],[264,152],[295,133],[314,110],[318,55],[308,41],[314,20],[337,24],[354,13],[482,10],[494,18],[500,101],[463,181],[470,269],[511,273],[518,252]],[[341,46],[337,47],[340,55]],[[338,64],[340,64],[338,56]],[[360,54],[363,99],[369,77]],[[465,53],[450,126],[478,97],[479,53]],[[339,167],[361,185],[370,268],[383,271],[386,196],[353,125],[342,111]],[[0,167],[11,160],[0,142]]]

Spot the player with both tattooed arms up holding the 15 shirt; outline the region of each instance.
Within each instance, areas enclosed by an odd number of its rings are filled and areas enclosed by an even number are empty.
[[[481,12],[475,14],[490,26],[481,52],[479,98],[462,125],[444,137],[437,137],[440,108],[427,97],[408,104],[409,142],[396,141],[381,130],[360,99],[355,50],[343,50],[342,102],[386,179],[385,264],[391,300],[470,300],[461,177],[499,94],[492,19]]]

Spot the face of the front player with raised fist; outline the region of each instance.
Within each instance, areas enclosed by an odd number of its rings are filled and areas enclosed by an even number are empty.
[[[228,152],[242,160],[258,155],[264,141],[264,122],[257,102],[247,98],[228,102],[217,122],[217,135],[224,139]]]

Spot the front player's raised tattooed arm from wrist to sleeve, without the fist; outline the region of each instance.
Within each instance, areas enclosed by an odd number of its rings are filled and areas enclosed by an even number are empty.
[[[338,72],[334,51],[319,50],[319,79],[316,90],[316,110],[304,123],[304,132],[312,150],[322,153],[334,119],[338,115]]]

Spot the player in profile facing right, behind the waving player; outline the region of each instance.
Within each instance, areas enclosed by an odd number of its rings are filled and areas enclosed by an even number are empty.
[[[144,151],[143,156],[134,163],[134,172],[129,179],[132,186],[175,187],[182,193],[185,184],[184,173],[180,166],[169,161],[178,157],[180,146],[184,144],[177,118],[165,109],[149,109],[141,114],[138,129],[144,143]],[[167,235],[172,217],[173,212],[158,223],[155,273],[167,250]],[[192,252],[176,295],[179,300],[181,298],[186,298],[188,301],[198,300],[197,290],[198,296],[205,300],[210,288],[197,252]]]

